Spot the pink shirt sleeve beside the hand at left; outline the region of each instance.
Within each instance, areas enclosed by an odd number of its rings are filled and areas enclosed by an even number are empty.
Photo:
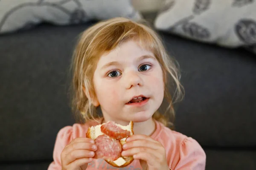
[[[66,126],[59,130],[53,149],[53,161],[49,165],[48,170],[61,170],[61,152],[64,147],[72,141],[72,139],[72,126]]]

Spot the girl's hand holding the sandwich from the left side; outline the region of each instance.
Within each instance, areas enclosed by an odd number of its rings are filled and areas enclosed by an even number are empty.
[[[96,150],[93,139],[73,139],[61,152],[62,170],[85,170],[88,163],[93,161]]]

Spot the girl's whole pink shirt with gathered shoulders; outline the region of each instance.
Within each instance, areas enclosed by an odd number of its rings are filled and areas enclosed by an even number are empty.
[[[48,170],[61,170],[61,152],[64,147],[77,137],[86,137],[88,127],[98,125],[97,122],[87,122],[86,124],[74,124],[63,127],[57,135],[53,151],[53,161]],[[170,130],[160,122],[156,121],[156,130],[151,135],[159,141],[166,149],[166,158],[169,168],[172,170],[204,170],[206,154],[195,139],[187,137],[181,133]],[[102,159],[93,159],[88,164],[87,170],[142,170],[140,161],[134,160],[127,167],[116,168]]]

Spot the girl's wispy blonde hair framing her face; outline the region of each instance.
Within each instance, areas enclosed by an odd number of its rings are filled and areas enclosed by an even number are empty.
[[[159,111],[154,113],[153,118],[166,126],[172,126],[175,116],[172,104],[176,100],[182,99],[183,96],[183,86],[179,81],[180,77],[175,60],[169,57],[160,38],[151,28],[122,17],[101,21],[81,33],[72,59],[73,110],[78,113],[82,122],[99,117],[92,104],[93,99],[96,98],[93,87],[93,73],[96,64],[102,54],[113,50],[127,40],[139,42],[141,47],[151,51],[160,63],[165,83],[164,97],[169,106],[163,114]],[[168,82],[168,77],[173,81]],[[173,96],[168,91],[169,83],[176,86]]]

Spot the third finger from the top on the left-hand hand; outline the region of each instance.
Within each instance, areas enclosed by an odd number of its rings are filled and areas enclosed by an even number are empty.
[[[66,164],[75,161],[80,158],[92,158],[95,155],[93,151],[90,150],[72,150],[66,155]]]

